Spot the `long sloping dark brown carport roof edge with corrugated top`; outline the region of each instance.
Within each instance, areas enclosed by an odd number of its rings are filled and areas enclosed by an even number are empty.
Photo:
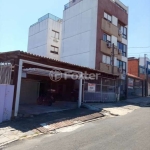
[[[59,60],[51,59],[48,57],[43,57],[43,56],[27,53],[27,52],[20,51],[20,50],[0,53],[0,62],[12,61],[13,63],[15,63],[14,59],[15,60],[19,60],[19,59],[30,60],[30,61],[38,62],[41,64],[46,64],[46,65],[51,64],[54,66],[61,66],[63,68],[67,68],[67,69],[70,68],[70,69],[74,69],[77,71],[89,71],[89,72],[93,72],[93,73],[97,72],[97,73],[109,75],[112,77],[118,77],[119,76],[118,74],[110,74],[110,73],[103,72],[103,71],[96,70],[96,69],[92,69],[89,67],[79,66],[76,64],[70,64],[70,63],[67,63],[64,61],[59,61]]]

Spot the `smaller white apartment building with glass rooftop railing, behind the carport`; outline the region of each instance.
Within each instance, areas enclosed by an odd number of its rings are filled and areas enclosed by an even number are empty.
[[[28,53],[60,59],[62,19],[46,14],[31,25],[28,36]]]

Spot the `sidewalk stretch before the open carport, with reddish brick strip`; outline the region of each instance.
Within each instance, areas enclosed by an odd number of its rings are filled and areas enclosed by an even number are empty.
[[[81,108],[42,114],[29,118],[18,118],[0,124],[0,147],[16,140],[54,132],[59,128],[75,125],[79,122],[84,123],[101,117],[103,115],[99,112]]]

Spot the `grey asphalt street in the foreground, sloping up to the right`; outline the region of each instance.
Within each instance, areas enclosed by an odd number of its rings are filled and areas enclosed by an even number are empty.
[[[17,141],[4,150],[150,150],[150,107]]]

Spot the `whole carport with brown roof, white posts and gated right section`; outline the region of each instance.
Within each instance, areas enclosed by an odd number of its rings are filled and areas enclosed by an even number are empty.
[[[15,87],[13,116],[17,116],[20,110],[34,111],[35,114],[38,114],[55,112],[60,109],[79,108],[84,102],[115,100],[117,74],[112,75],[22,51],[0,53],[0,61],[9,61],[13,66],[11,75],[11,84]],[[55,82],[50,79],[49,73],[53,70],[61,71],[62,79],[60,81]],[[87,75],[99,74],[97,81],[92,81],[90,77],[85,78],[85,73]],[[78,79],[73,80],[74,74],[78,75]],[[59,72],[55,72],[54,75],[60,76]],[[57,100],[52,106],[37,105],[37,98],[43,93],[45,87],[50,91],[63,93],[63,99]],[[59,92],[57,92],[58,90]],[[68,95],[72,91],[73,98]],[[114,98],[112,99],[112,97]],[[25,104],[27,105],[25,106]]]

